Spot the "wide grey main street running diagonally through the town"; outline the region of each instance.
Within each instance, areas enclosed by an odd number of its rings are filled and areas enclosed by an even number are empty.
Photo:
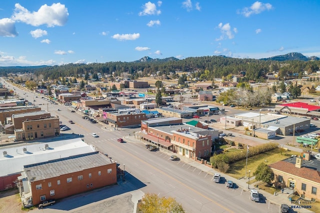
[[[21,97],[24,98],[26,93],[26,98],[31,98],[32,100],[29,101],[33,102],[33,92],[14,88]],[[112,131],[101,124],[91,124],[82,119],[78,113],[71,113],[66,106],[47,104],[48,102],[40,97],[35,100],[35,105],[40,104],[43,110],[48,109],[52,116],[59,116],[62,123],[70,127],[70,130],[61,132],[62,134],[83,135],[85,143],[92,144],[102,153],[107,153],[121,169],[125,169],[125,182],[121,187],[126,187],[127,191],[140,190],[143,193],[155,193],[160,197],[173,197],[188,213],[278,212],[278,206],[269,204],[268,201],[263,200],[263,196],[260,203],[252,202],[247,191],[240,188],[227,189],[222,182],[215,184],[212,182],[212,175],[191,167],[183,161],[172,162],[165,152],[150,152],[138,140],[126,143],[116,141],[120,137],[125,141],[124,136],[131,134],[134,129]],[[68,124],[69,119],[72,119],[75,124]],[[93,138],[92,132],[99,137]],[[78,205],[86,204],[81,202],[81,198],[77,199]],[[90,206],[90,204],[87,205]],[[92,212],[95,206],[90,206]],[[121,212],[120,209],[118,211]]]

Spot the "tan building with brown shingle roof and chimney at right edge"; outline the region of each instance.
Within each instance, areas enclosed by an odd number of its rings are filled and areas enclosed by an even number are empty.
[[[318,160],[307,161],[298,156],[270,164],[269,167],[274,174],[275,187],[284,189],[288,193],[298,194],[306,200],[320,201],[320,172],[318,171],[320,162]]]

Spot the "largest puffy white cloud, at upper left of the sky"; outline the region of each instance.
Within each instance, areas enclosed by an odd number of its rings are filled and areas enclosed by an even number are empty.
[[[51,6],[42,5],[38,11],[30,12],[19,3],[16,3],[12,15],[15,21],[21,21],[32,26],[46,24],[48,27],[62,26],[68,18],[68,10],[64,4],[52,3]]]

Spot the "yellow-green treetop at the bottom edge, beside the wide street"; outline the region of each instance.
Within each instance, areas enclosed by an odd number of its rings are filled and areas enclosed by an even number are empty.
[[[185,213],[182,206],[171,197],[158,197],[146,193],[137,206],[138,213]]]

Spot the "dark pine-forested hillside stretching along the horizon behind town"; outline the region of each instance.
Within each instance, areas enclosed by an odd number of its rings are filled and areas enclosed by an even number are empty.
[[[143,60],[134,62],[106,62],[91,64],[65,64],[60,66],[42,67],[2,67],[0,74],[8,72],[32,72],[41,75],[44,80],[57,79],[59,76],[79,76],[85,73],[113,74],[113,77],[120,76],[127,72],[131,79],[148,76],[158,72],[158,75],[169,75],[175,71],[195,71],[193,77],[200,80],[212,80],[213,78],[226,77],[228,75],[243,74],[243,80],[263,80],[269,72],[278,72],[280,78],[291,77],[293,74],[302,77],[303,71],[308,73],[319,70],[318,60],[262,60],[262,59],[240,59],[225,56],[201,56],[188,57],[183,60],[168,58],[154,60],[144,57]]]

